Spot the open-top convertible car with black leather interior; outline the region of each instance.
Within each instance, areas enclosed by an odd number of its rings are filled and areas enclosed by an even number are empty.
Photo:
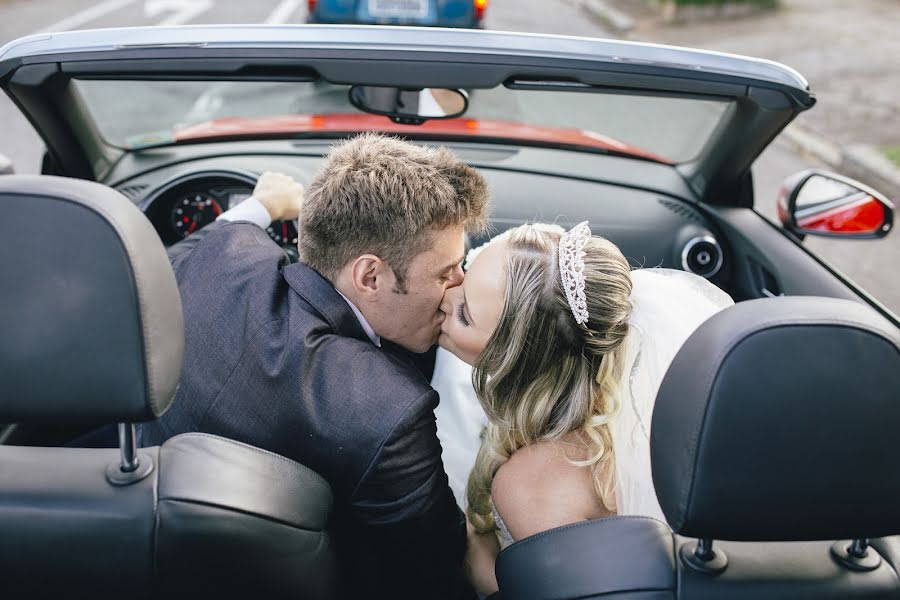
[[[815,104],[792,69],[479,30],[223,26],[23,38],[0,49],[0,86],[47,149],[42,175],[0,176],[4,597],[329,596],[326,482],[230,440],[136,449],[133,432],[182,369],[164,247],[263,171],[309,182],[362,131],[480,169],[495,233],[589,220],[635,268],[738,301],[657,399],[668,522],[520,540],[498,559],[503,598],[900,597],[900,320],[803,245],[887,235],[893,209],[820,171],[785,182],[780,223],[754,209],[754,160]],[[268,233],[296,259],[293,223]],[[66,446],[113,423],[118,450]]]

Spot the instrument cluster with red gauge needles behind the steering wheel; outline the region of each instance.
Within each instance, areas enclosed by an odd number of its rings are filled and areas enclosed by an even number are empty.
[[[170,246],[249,198],[255,185],[256,176],[249,172],[193,172],[152,190],[142,202],[143,210],[163,244]],[[293,222],[274,221],[266,231],[296,259],[297,228]]]

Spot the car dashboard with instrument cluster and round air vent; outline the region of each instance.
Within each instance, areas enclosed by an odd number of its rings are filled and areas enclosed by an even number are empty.
[[[451,147],[491,190],[491,229],[473,237],[473,246],[525,222],[570,227],[588,220],[635,268],[682,269],[730,287],[729,249],[670,167],[547,149]],[[151,151],[117,165],[113,187],[132,198],[168,246],[245,200],[259,173],[280,171],[308,186],[329,149],[323,141],[279,140],[185,147],[174,156]],[[274,222],[268,234],[296,260],[294,223]]]

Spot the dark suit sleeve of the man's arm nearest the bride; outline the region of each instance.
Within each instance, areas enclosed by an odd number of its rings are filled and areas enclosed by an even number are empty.
[[[391,598],[474,597],[462,566],[465,516],[441,462],[436,406],[429,390],[407,409],[352,498],[368,549],[364,576]]]

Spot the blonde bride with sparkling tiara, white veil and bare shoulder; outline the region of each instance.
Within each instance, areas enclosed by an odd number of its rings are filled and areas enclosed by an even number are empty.
[[[488,595],[501,545],[615,514],[663,518],[650,474],[656,391],[687,337],[733,302],[688,273],[632,271],[586,222],[511,229],[467,266],[439,339],[462,362],[439,354],[432,384],[451,482],[483,419],[466,388],[487,415],[466,514],[470,577]]]

